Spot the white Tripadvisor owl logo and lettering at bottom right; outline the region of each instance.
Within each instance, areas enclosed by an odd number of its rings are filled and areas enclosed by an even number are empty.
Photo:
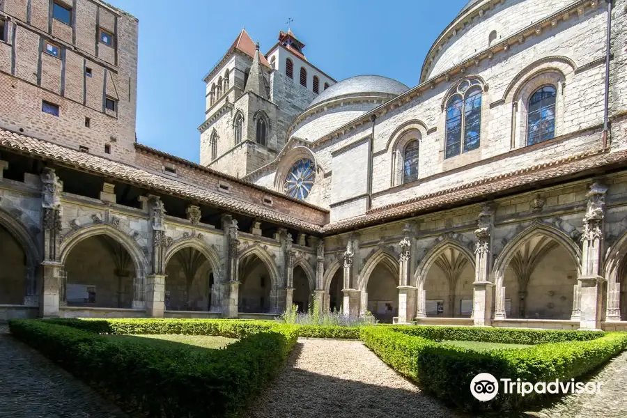
[[[504,394],[520,394],[525,396],[536,394],[597,394],[601,392],[603,382],[560,382],[558,379],[552,382],[523,382],[520,379],[511,380],[501,378]],[[487,402],[497,396],[499,392],[499,380],[490,373],[479,373],[470,382],[470,392],[478,401]]]

